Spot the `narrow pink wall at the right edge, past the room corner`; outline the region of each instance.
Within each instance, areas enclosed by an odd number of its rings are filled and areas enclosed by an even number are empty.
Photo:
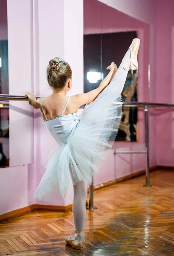
[[[174,1],[157,9],[157,102],[174,104]],[[167,111],[167,113],[166,113]],[[157,164],[174,166],[174,111],[157,111]]]

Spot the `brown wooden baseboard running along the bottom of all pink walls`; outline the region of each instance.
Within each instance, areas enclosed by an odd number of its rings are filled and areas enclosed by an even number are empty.
[[[157,169],[174,170],[174,166],[152,166],[150,168],[150,172],[155,171]],[[135,172],[135,173],[132,173],[130,175],[126,175],[124,177],[121,177],[121,178],[118,178],[118,179],[115,179],[115,180],[110,180],[108,182],[105,182],[105,183],[94,186],[94,191],[97,191],[99,189],[107,188],[107,187],[112,186],[116,183],[119,183],[119,182],[122,182],[122,181],[125,181],[125,180],[129,180],[129,179],[138,177],[140,175],[144,175],[145,173],[146,173],[146,170],[142,170],[142,171]],[[86,202],[86,205],[87,205],[87,202]],[[66,205],[66,206],[32,204],[32,205],[29,205],[27,207],[23,207],[21,209],[17,209],[17,210],[11,211],[11,212],[4,213],[3,215],[0,215],[0,222],[8,221],[12,218],[16,218],[16,217],[19,217],[21,215],[24,215],[26,213],[33,212],[33,211],[70,212],[70,211],[72,211],[72,207],[73,207],[72,204],[69,204],[69,205]]]

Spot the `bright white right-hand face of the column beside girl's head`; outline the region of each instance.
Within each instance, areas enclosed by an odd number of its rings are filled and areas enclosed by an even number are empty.
[[[64,0],[64,58],[73,70],[69,95],[83,93],[83,0]]]

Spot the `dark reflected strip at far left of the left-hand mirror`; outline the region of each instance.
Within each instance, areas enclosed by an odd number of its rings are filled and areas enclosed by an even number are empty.
[[[8,94],[7,2],[0,4],[0,94]],[[0,101],[0,168],[9,166],[9,105]]]

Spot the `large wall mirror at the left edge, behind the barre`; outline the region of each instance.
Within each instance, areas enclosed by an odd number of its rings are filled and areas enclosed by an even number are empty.
[[[24,2],[0,0],[0,94],[24,96],[34,88],[33,9]],[[28,102],[0,101],[0,168],[34,162],[33,117]]]

